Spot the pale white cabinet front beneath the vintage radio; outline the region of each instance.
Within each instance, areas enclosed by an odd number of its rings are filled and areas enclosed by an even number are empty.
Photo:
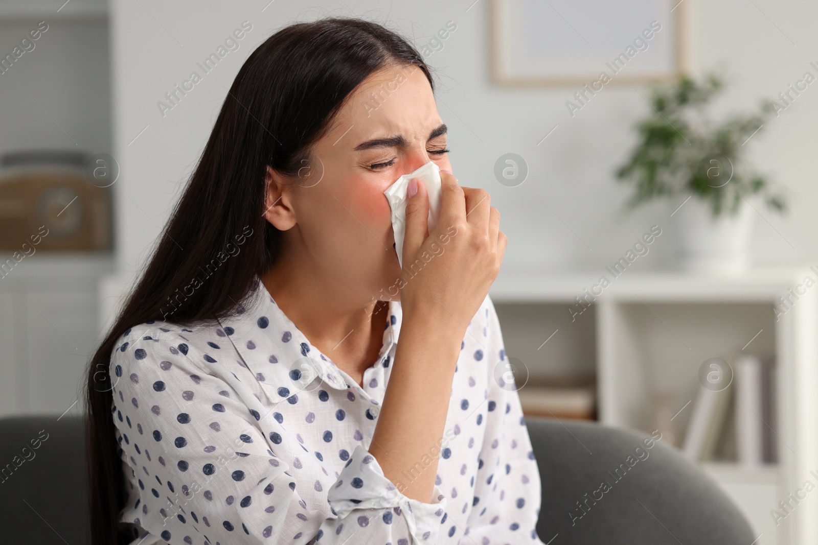
[[[0,417],[82,409],[100,340],[97,284],[111,263],[107,254],[38,252],[0,278]]]

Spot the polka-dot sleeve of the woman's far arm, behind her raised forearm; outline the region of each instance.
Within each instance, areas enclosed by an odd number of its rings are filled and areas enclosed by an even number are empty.
[[[468,534],[483,545],[542,543],[535,529],[541,502],[537,461],[490,297],[486,309],[488,412]]]

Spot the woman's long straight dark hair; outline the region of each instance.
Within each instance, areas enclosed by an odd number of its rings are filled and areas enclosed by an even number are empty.
[[[416,65],[414,47],[382,25],[327,18],[279,30],[253,51],[227,92],[196,170],[141,279],[88,364],[86,449],[93,545],[128,543],[119,531],[127,498],[111,416],[111,352],[128,328],[151,320],[190,323],[231,315],[272,266],[281,231],[263,217],[267,165],[297,181],[312,145],[326,133],[350,92],[388,65]],[[207,272],[236,237],[240,252]],[[229,251],[229,249],[227,250]]]

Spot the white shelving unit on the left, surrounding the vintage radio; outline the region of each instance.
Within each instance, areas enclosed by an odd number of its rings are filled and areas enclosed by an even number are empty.
[[[0,153],[111,153],[109,8],[108,0],[0,0],[2,55],[38,21],[48,25],[2,76]],[[98,286],[115,270],[113,252],[36,249],[11,266],[13,252],[0,251],[0,417],[60,414],[79,399],[78,414],[99,342]]]

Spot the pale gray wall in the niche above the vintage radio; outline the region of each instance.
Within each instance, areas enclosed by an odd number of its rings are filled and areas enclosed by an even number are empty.
[[[0,74],[3,153],[29,149],[110,153],[106,18],[103,11],[93,11],[101,2],[79,4],[84,11],[69,12],[66,7],[57,14],[59,6],[15,11],[11,2],[0,1],[0,57],[11,54],[38,22],[47,25],[33,42],[34,49]]]

